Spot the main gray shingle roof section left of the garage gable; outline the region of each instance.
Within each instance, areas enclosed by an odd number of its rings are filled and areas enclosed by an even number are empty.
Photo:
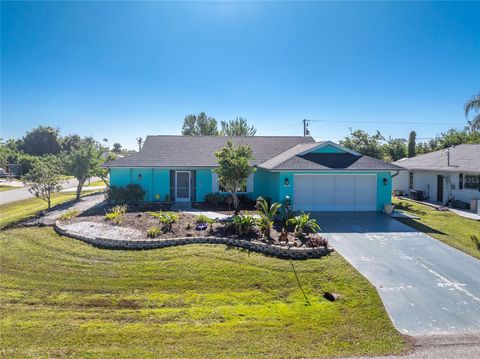
[[[140,152],[108,162],[105,167],[215,167],[215,152],[228,140],[252,148],[259,165],[298,144],[316,143],[312,137],[294,136],[148,136]]]

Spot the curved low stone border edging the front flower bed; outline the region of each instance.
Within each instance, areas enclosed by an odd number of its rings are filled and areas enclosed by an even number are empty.
[[[60,221],[56,221],[53,228],[55,231],[66,237],[81,240],[91,244],[94,247],[103,249],[155,249],[173,246],[181,246],[186,244],[225,244],[227,246],[239,247],[248,251],[262,253],[282,259],[310,259],[321,258],[333,252],[331,247],[319,248],[299,248],[299,247],[283,247],[278,245],[265,244],[258,241],[247,241],[244,239],[234,239],[225,237],[180,237],[166,239],[113,239],[104,237],[94,237],[79,235],[68,231]]]

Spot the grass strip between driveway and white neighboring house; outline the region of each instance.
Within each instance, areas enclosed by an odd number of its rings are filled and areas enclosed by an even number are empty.
[[[397,209],[415,215],[420,219],[399,219],[401,222],[432,236],[449,246],[480,259],[480,252],[471,240],[479,235],[480,222],[460,217],[452,212],[437,211],[409,200],[393,199]]]

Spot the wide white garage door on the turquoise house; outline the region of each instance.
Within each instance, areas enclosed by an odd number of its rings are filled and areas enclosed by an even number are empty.
[[[375,211],[376,175],[295,175],[293,204],[305,211]]]

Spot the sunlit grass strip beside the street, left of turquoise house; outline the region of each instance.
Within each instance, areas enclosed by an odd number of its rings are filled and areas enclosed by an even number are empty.
[[[90,193],[93,193],[93,191],[82,192],[82,195]],[[56,206],[74,198],[75,193],[54,193],[51,206]],[[12,223],[34,217],[38,212],[45,209],[47,209],[47,202],[35,197],[2,204],[0,205],[0,228],[5,228]]]

